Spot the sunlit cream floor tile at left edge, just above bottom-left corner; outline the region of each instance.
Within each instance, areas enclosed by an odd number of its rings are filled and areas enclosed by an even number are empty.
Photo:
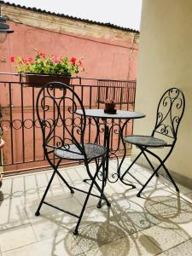
[[[0,231],[0,237],[0,247],[2,252],[23,247],[37,241],[30,224]]]

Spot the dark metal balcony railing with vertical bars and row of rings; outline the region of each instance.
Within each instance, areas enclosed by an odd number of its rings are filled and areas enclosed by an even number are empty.
[[[28,169],[46,167],[44,152],[42,149],[42,134],[38,125],[36,115],[36,97],[39,88],[28,86],[22,81],[20,75],[15,73],[0,74],[0,114],[2,124],[8,127],[4,133],[6,141],[3,148],[3,166],[5,172],[13,172]],[[71,79],[73,90],[78,93],[84,108],[104,108],[107,98],[117,102],[118,109],[134,110],[136,81],[110,80],[110,79]],[[65,104],[63,111],[65,111]],[[54,118],[54,106],[49,109],[49,119]],[[98,120],[102,123],[102,120]],[[73,126],[80,122],[79,116],[67,119],[68,126]],[[76,122],[76,123],[75,123]],[[119,143],[118,125],[111,121],[110,145],[114,152],[120,154],[122,145]],[[122,121],[123,122],[123,121]],[[102,127],[102,125],[101,125]],[[58,132],[62,131],[62,124],[58,124]],[[62,131],[64,132],[64,131]],[[132,122],[125,128],[125,135],[132,133]],[[87,119],[87,129],[85,141],[91,143],[96,138],[96,125],[92,119]],[[103,131],[101,128],[98,143],[102,143]],[[70,164],[67,162],[67,164]]]

